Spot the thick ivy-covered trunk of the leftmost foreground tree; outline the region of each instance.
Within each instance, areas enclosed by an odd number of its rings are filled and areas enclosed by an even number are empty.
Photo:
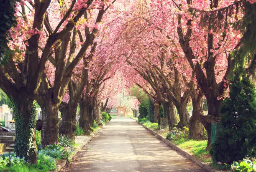
[[[36,113],[33,99],[20,95],[14,100],[15,146],[14,151],[20,158],[25,157],[31,164],[36,164]]]

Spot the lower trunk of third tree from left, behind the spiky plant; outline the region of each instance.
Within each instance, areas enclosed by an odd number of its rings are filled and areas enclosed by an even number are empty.
[[[76,112],[77,105],[67,104],[61,111],[62,121],[59,124],[59,134],[67,135],[71,139],[76,137]]]

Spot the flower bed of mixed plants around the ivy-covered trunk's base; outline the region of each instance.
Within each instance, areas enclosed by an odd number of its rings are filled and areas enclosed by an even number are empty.
[[[65,159],[71,162],[74,152],[74,142],[66,136],[59,136],[59,144],[48,145],[42,149],[41,132],[36,132],[38,139],[37,164],[29,164],[24,158],[16,157],[15,153],[0,156],[0,171],[11,172],[46,172],[56,169],[57,161]]]

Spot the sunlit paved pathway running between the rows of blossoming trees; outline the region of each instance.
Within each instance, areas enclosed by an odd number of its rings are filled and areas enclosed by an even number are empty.
[[[129,117],[114,117],[64,171],[206,172]]]

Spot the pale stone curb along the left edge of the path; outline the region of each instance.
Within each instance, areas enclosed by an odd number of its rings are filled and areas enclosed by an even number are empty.
[[[90,136],[81,136],[81,137],[84,137],[84,140],[83,140],[84,142],[79,143],[79,146],[77,146],[75,148],[74,153],[72,155],[70,155],[70,158],[72,159],[77,154],[77,152],[79,152],[88,142],[90,142],[92,140],[92,138],[97,135],[98,132],[100,132],[100,130],[102,130],[102,128],[98,129],[97,132],[94,132],[93,134],[90,134]],[[67,164],[66,159],[59,160],[56,164],[56,169],[52,170],[51,172],[61,171],[61,169],[63,167],[65,167],[66,164]]]

